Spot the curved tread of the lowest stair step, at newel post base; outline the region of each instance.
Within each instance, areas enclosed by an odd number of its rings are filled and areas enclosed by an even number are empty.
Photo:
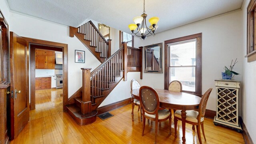
[[[92,116],[95,116],[98,113],[96,110],[93,110],[88,114],[81,114],[81,109],[76,104],[70,104],[70,105],[67,105],[66,107],[70,112],[74,114],[74,116],[80,119],[90,118]]]

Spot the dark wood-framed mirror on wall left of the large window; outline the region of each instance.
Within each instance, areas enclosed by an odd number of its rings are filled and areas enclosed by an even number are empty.
[[[163,73],[162,43],[144,46],[144,72]]]

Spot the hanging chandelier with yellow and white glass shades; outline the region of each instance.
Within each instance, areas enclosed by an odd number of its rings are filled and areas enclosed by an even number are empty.
[[[130,30],[132,31],[132,34],[141,37],[143,40],[145,40],[145,38],[147,36],[151,36],[152,34],[155,34],[156,29],[158,28],[158,26],[156,25],[159,18],[158,17],[152,17],[150,18],[148,21],[150,22],[150,26],[148,27],[146,24],[146,17],[148,15],[145,14],[145,0],[144,0],[144,9],[143,9],[143,14],[141,16],[136,16],[135,18],[133,18],[133,21],[135,24],[129,24],[128,27],[130,28]],[[138,32],[134,33],[135,30],[138,30]]]

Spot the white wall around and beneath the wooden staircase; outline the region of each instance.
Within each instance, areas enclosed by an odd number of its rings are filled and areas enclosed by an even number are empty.
[[[10,31],[24,37],[68,44],[68,97],[72,96],[72,94],[74,94],[74,92],[76,92],[82,86],[82,70],[80,68],[92,68],[92,70],[94,70],[100,65],[100,62],[95,58],[95,56],[93,56],[76,37],[69,37],[68,26],[63,26],[53,22],[11,12]],[[118,40],[112,40],[112,53],[119,49],[114,48],[115,41],[119,43],[119,35],[115,36],[115,34],[117,34],[115,31],[118,30],[113,29],[113,31],[111,31],[113,34],[111,34],[111,38],[114,39],[115,37],[118,37]],[[138,46],[139,39],[136,38],[135,40],[137,40],[135,44]],[[74,50],[85,51],[85,64],[74,62]],[[118,84],[113,92],[110,93],[108,98],[101,104],[101,106],[130,97],[130,80],[134,78],[139,79],[140,74],[129,73],[128,76],[128,81],[120,82],[120,84]],[[126,89],[128,89],[126,93],[120,94],[119,91],[124,92]]]

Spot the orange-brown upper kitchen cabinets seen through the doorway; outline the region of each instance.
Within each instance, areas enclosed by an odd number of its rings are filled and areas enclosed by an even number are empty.
[[[36,69],[54,69],[55,52],[36,49]]]

